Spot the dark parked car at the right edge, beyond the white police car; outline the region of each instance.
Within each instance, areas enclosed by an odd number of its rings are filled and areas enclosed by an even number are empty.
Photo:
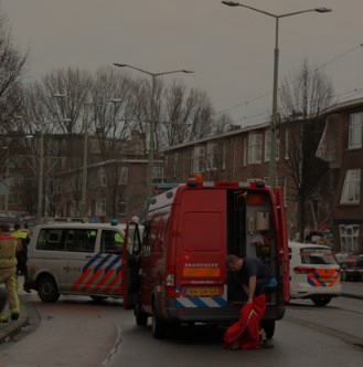
[[[363,253],[339,252],[337,260],[340,264],[340,279],[342,282],[363,281]]]

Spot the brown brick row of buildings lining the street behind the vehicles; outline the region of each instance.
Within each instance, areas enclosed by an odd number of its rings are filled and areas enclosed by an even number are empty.
[[[279,124],[277,177],[282,186],[289,239],[303,232],[323,232],[335,251],[363,252],[363,98],[338,104],[320,120],[293,116]],[[14,139],[18,138],[18,144]],[[83,176],[82,136],[70,141],[47,137],[52,149],[44,156],[44,217],[78,217]],[[311,140],[313,144],[310,148]],[[117,154],[103,154],[88,141],[87,217],[97,221],[132,216],[147,209],[148,156],[137,134]],[[35,141],[36,143],[36,139]],[[10,190],[0,193],[0,212],[34,216],[40,155],[19,136],[2,138],[1,177]],[[201,172],[204,180],[269,181],[270,124],[259,124],[163,149],[153,160],[153,184],[185,182]],[[302,164],[302,159],[307,159]],[[305,178],[305,179],[301,179]],[[303,190],[305,191],[303,191]],[[303,200],[300,199],[303,192]],[[302,203],[299,202],[302,200]],[[300,234],[300,235],[299,235]]]

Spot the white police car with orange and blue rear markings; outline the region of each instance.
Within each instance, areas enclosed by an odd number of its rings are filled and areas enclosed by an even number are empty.
[[[332,249],[313,243],[289,242],[290,298],[311,298],[325,306],[341,294],[340,265]]]

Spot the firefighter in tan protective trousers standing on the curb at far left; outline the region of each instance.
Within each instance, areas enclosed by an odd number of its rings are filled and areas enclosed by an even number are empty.
[[[11,235],[9,224],[0,224],[0,283],[6,285],[11,319],[18,319],[20,302],[18,296],[17,253],[21,242]],[[0,314],[0,322],[8,322],[8,316]]]

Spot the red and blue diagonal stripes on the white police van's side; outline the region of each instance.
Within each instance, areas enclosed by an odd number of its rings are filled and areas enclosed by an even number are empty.
[[[122,294],[121,256],[97,253],[83,268],[71,287],[73,292],[104,295]]]

